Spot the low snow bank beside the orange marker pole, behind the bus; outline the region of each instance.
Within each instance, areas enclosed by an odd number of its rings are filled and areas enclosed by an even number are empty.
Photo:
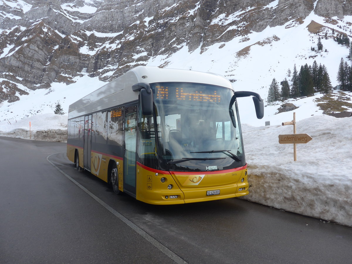
[[[38,114],[18,121],[0,121],[0,136],[66,142],[67,115]]]

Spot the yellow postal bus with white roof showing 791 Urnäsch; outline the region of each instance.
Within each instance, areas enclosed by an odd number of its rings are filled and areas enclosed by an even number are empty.
[[[69,106],[67,157],[137,200],[178,204],[248,194],[237,98],[224,76],[138,66]]]

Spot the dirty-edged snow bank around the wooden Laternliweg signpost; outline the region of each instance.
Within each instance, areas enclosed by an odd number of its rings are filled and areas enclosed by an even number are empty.
[[[290,120],[282,120],[290,121]],[[293,126],[243,125],[250,194],[243,199],[352,226],[352,118],[320,115],[297,122],[313,139],[279,144]]]

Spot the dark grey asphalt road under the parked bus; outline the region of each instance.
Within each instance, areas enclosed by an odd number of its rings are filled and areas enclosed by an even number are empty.
[[[148,205],[78,172],[65,152],[0,137],[0,263],[352,261],[350,227],[239,199]]]

